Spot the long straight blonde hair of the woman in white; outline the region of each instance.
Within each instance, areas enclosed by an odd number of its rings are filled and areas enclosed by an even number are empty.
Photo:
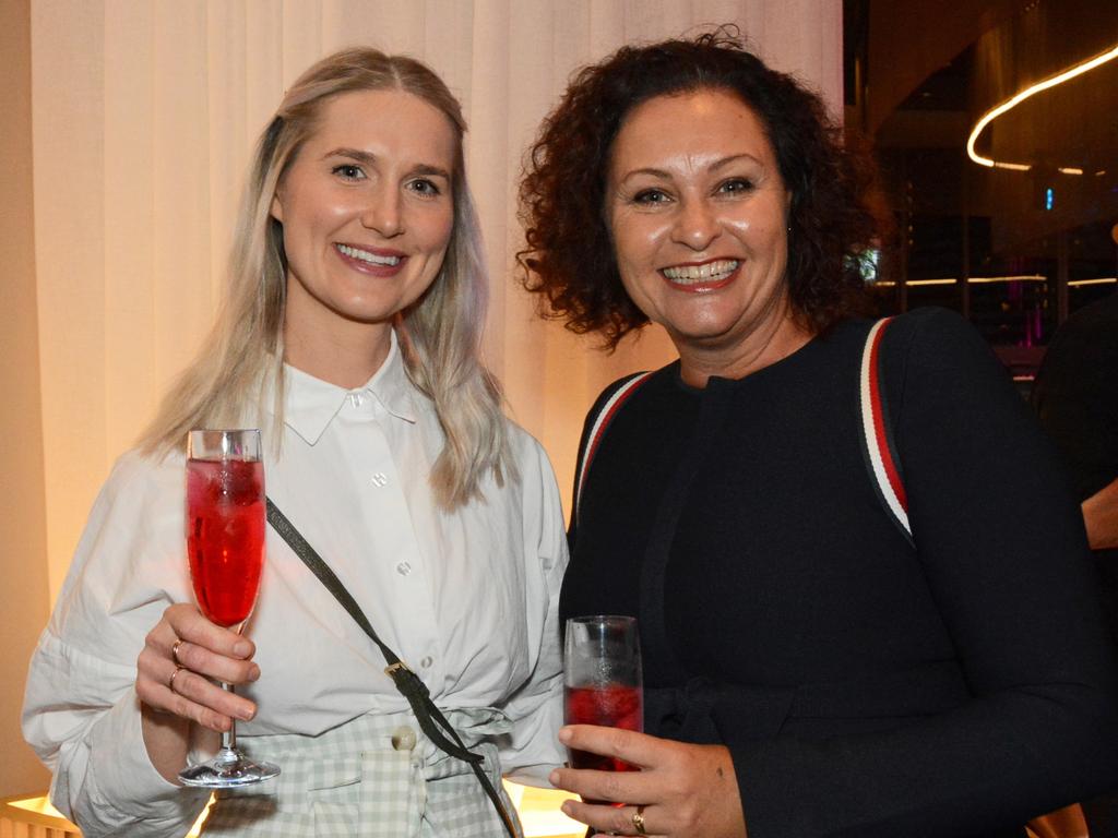
[[[181,447],[191,428],[221,427],[265,416],[274,393],[275,439],[283,422],[283,326],[287,261],[283,226],[271,216],[276,187],[316,127],[322,105],[352,91],[398,89],[443,112],[455,130],[454,228],[438,276],[397,316],[408,377],[435,403],[446,437],[432,468],[438,502],[454,508],[480,495],[492,472],[514,476],[501,389],[481,362],[487,279],[481,229],[466,184],[457,99],[426,65],[367,47],[344,49],[307,69],[284,96],[260,136],[245,188],[229,263],[226,298],[202,351],[164,397],[140,440],[148,454]],[[269,388],[268,383],[274,382]]]

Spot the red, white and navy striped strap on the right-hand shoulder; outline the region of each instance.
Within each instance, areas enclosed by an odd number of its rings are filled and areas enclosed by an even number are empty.
[[[904,493],[901,460],[893,442],[885,390],[881,383],[881,339],[891,317],[873,324],[862,350],[859,404],[862,411],[862,454],[873,478],[878,499],[890,520],[897,524],[910,544],[912,527],[908,520],[908,496]]]

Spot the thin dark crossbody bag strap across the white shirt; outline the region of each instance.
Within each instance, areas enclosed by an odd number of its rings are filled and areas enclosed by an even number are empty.
[[[287,516],[280,511],[280,507],[272,503],[271,497],[267,498],[267,511],[268,523],[272,524],[272,528],[287,542],[291,549],[295,551],[295,555],[303,560],[303,563],[311,569],[311,572],[319,578],[319,581],[325,585],[326,590],[334,594],[334,599],[342,604],[342,608],[349,611],[350,617],[361,627],[361,630],[380,648],[385,660],[388,661],[385,672],[392,679],[392,684],[396,685],[400,695],[408,699],[411,712],[415,714],[416,721],[419,722],[419,727],[423,729],[427,739],[434,742],[435,746],[444,753],[468,763],[477,781],[485,790],[485,794],[493,802],[493,807],[501,817],[501,822],[504,823],[505,830],[508,830],[511,838],[518,838],[512,817],[504,808],[504,803],[501,801],[496,789],[493,788],[493,783],[490,782],[490,779],[482,770],[482,755],[466,749],[457,731],[454,730],[454,725],[447,721],[443,712],[432,701],[427,685],[400,660],[399,656],[383,640],[377,637],[377,632],[364,616],[361,607],[357,603],[357,600],[345,590],[345,585],[334,575],[334,572],[330,570],[330,565],[322,560],[322,556],[315,552],[314,547],[307,543],[303,534],[295,528],[295,525],[287,520]]]

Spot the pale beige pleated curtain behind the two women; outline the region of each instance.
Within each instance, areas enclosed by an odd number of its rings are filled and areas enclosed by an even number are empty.
[[[672,356],[613,356],[513,280],[521,158],[571,70],[635,40],[733,22],[836,112],[839,0],[32,0],[35,259],[51,598],[113,460],[192,356],[219,298],[250,146],[285,85],[337,48],[430,64],[462,98],[492,269],[489,363],[565,497],[584,413]]]

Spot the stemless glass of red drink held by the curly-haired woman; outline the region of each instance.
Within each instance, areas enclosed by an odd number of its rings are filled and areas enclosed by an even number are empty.
[[[563,692],[567,724],[596,724],[644,730],[641,644],[636,618],[597,615],[567,620],[563,644]],[[637,771],[615,759],[568,749],[571,768]],[[587,800],[588,803],[608,803]]]

